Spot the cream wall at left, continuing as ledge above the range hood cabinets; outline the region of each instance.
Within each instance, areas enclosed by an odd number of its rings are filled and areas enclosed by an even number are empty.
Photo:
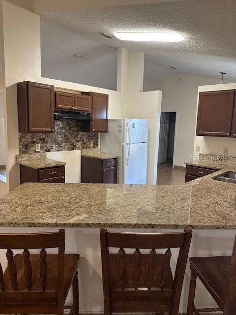
[[[6,110],[7,126],[5,137],[7,139],[6,146],[8,146],[8,150],[6,150],[6,167],[8,189],[11,190],[20,185],[19,165],[15,163],[15,156],[18,154],[17,82],[29,80],[52,84],[60,88],[108,94],[109,118],[122,118],[122,108],[119,92],[42,78],[40,63],[40,17],[8,1],[0,0],[1,3],[3,12],[0,15],[0,23],[3,23],[3,28],[0,28],[0,34],[1,42],[4,39],[3,59],[5,58],[4,79],[6,87],[6,99],[3,101],[3,106],[4,110]]]

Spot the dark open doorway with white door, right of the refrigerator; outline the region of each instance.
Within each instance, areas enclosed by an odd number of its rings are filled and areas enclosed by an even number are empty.
[[[176,112],[161,113],[158,164],[173,166],[176,130]]]

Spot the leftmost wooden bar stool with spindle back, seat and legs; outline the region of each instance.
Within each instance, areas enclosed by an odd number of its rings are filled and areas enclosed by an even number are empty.
[[[58,248],[58,254],[45,249]],[[37,234],[0,234],[0,249],[7,250],[7,268],[0,265],[0,314],[58,314],[73,286],[70,315],[78,315],[79,254],[65,254],[65,230]],[[12,249],[24,250],[14,255]],[[29,249],[40,249],[30,254]]]

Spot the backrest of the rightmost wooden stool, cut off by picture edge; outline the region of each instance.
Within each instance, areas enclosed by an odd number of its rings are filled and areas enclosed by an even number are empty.
[[[226,287],[224,315],[235,314],[236,310],[236,237],[230,262],[228,284]]]

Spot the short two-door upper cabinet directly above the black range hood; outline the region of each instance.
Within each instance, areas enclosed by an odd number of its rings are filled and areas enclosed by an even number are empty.
[[[67,110],[91,111],[91,96],[56,92],[56,108]]]

